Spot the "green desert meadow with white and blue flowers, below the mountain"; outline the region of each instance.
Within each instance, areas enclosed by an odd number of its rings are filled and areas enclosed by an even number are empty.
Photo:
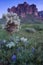
[[[0,26],[0,65],[43,65],[43,24],[22,24],[11,36]]]

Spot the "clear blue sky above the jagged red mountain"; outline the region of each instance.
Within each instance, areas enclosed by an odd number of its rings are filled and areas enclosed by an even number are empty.
[[[19,3],[27,2],[28,4],[36,4],[39,11],[43,10],[43,0],[0,0],[0,18],[7,13],[7,8],[17,6]]]

